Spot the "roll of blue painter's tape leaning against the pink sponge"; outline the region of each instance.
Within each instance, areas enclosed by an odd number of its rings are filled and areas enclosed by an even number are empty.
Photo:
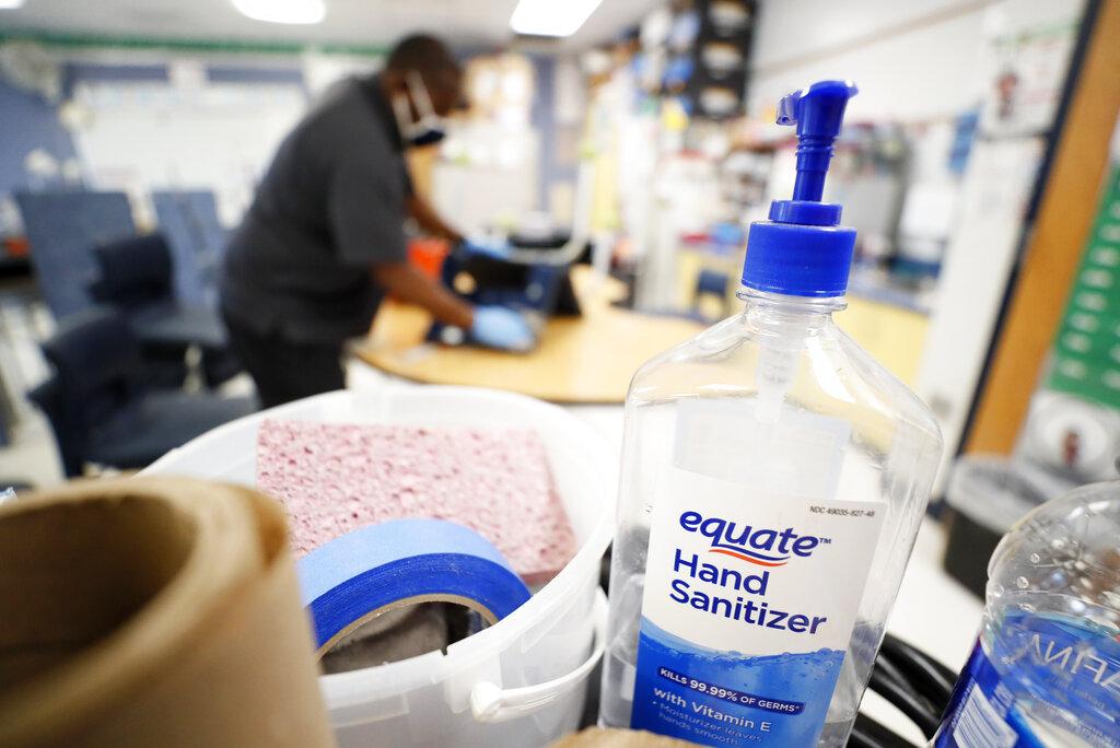
[[[442,520],[393,520],[336,537],[296,563],[319,656],[386,610],[457,602],[496,624],[529,588],[485,537]]]

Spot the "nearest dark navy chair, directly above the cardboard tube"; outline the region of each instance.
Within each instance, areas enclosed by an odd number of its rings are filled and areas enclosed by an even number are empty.
[[[255,409],[248,398],[146,387],[138,375],[140,346],[112,309],[67,317],[43,352],[55,373],[29,396],[50,421],[68,477],[91,462],[142,468]]]

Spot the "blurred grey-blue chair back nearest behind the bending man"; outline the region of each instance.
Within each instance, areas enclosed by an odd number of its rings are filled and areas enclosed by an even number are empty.
[[[192,303],[216,303],[226,232],[214,193],[155,190],[151,202],[175,260],[175,294]]]

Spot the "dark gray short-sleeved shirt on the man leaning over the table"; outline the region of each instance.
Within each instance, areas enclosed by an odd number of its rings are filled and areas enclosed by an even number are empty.
[[[273,157],[226,251],[223,311],[298,342],[366,333],[383,296],[370,267],[405,260],[411,190],[376,78],[345,82]]]

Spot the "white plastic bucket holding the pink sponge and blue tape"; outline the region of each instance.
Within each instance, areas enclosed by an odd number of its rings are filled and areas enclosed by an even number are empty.
[[[233,421],[146,473],[253,485],[256,430],[265,418],[532,428],[541,436],[580,543],[563,571],[511,616],[452,644],[446,655],[324,675],[319,683],[342,746],[522,748],[575,730],[606,625],[599,560],[613,532],[616,478],[614,455],[598,434],[562,409],[522,395],[390,385],[332,392]]]

